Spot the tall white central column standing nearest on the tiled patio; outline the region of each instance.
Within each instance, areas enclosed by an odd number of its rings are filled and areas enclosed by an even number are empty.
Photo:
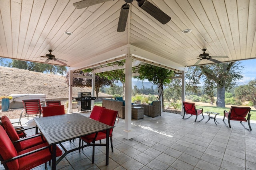
[[[132,132],[132,56],[130,47],[125,58],[125,123],[123,137],[126,139],[133,138]]]

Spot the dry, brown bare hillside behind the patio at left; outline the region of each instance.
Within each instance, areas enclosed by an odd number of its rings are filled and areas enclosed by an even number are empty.
[[[73,87],[72,96],[76,97],[79,91],[92,90],[88,87]],[[42,93],[46,98],[68,98],[68,85],[65,83],[65,77],[60,75],[0,66],[0,96],[28,93]],[[99,96],[106,95],[99,93]]]

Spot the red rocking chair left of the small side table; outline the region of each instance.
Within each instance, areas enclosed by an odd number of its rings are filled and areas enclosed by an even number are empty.
[[[184,113],[182,119],[188,119],[188,118],[192,117],[192,115],[196,115],[196,119],[197,119],[197,116],[200,114],[202,114],[203,118],[200,121],[195,120],[195,122],[201,122],[204,119],[203,109],[202,108],[196,109],[195,103],[189,103],[189,102],[184,101],[183,106],[184,106],[183,108],[184,108],[185,113]],[[184,118],[186,114],[189,114],[191,116],[188,118]]]

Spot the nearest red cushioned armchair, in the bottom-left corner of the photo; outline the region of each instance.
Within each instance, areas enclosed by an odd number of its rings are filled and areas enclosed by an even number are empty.
[[[51,147],[47,142],[17,151],[2,126],[0,134],[0,160],[6,170],[30,170],[41,164],[45,164],[46,168],[46,162],[52,159]],[[57,146],[56,156],[61,155],[62,151]]]

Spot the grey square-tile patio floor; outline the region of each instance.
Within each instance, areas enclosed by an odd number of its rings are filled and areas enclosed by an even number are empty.
[[[200,123],[194,122],[195,116],[182,120],[180,115],[165,112],[155,118],[144,115],[144,119],[132,121],[134,138],[130,140],[122,137],[124,119],[119,119],[113,131],[114,152],[110,147],[108,166],[105,165],[104,147],[96,147],[94,164],[92,147],[87,147],[80,153],[68,154],[57,169],[256,170],[256,122],[252,121],[252,131],[249,131],[238,121],[231,121],[232,128],[226,127],[222,117],[217,118],[218,126],[213,119],[206,123],[208,116],[204,115]],[[35,125],[32,119],[24,118],[22,124]],[[78,139],[65,142],[64,146],[74,148],[78,142]],[[34,169],[44,170],[44,164]]]

